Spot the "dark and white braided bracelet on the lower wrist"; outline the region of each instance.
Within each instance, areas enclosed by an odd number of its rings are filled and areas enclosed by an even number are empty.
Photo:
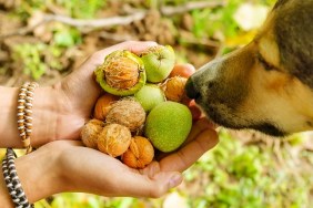
[[[7,148],[6,156],[2,160],[2,171],[6,185],[16,208],[33,208],[33,205],[29,204],[27,196],[22,189],[22,185],[19,180],[14,164],[16,157],[17,155],[14,150]]]

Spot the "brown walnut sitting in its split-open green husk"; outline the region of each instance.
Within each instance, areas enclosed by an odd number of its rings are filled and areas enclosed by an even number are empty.
[[[108,93],[128,96],[137,93],[147,82],[142,60],[130,51],[114,51],[94,71],[95,80]]]

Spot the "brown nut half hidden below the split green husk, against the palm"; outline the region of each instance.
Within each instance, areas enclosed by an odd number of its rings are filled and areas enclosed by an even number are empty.
[[[108,112],[110,111],[112,104],[114,101],[118,101],[119,96],[112,95],[112,94],[104,94],[101,97],[98,98],[94,111],[93,111],[93,117],[97,119],[104,121]]]

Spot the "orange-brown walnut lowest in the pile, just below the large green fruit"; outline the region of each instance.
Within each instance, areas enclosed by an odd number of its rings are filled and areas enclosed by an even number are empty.
[[[122,155],[122,162],[132,168],[144,168],[153,157],[154,148],[150,141],[142,136],[134,136],[129,149]]]

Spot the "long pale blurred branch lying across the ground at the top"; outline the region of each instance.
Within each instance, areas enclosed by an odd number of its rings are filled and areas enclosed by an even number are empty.
[[[184,13],[194,9],[203,9],[203,8],[214,8],[223,6],[224,1],[198,1],[198,2],[188,2],[183,6],[179,7],[161,7],[160,12],[163,15],[173,15],[178,13]],[[133,21],[139,21],[145,18],[148,10],[132,10],[133,12],[129,15],[117,15],[112,18],[104,18],[104,19],[93,19],[93,20],[84,20],[84,19],[73,19],[65,15],[58,15],[58,14],[43,14],[42,21],[38,24],[32,27],[24,27],[14,32],[7,33],[0,35],[0,40],[6,39],[8,37],[13,35],[24,35],[29,32],[32,32],[37,27],[51,22],[57,21],[61,22],[71,27],[75,27],[79,29],[85,30],[87,28],[105,28],[105,27],[113,27],[113,25],[127,25]]]

